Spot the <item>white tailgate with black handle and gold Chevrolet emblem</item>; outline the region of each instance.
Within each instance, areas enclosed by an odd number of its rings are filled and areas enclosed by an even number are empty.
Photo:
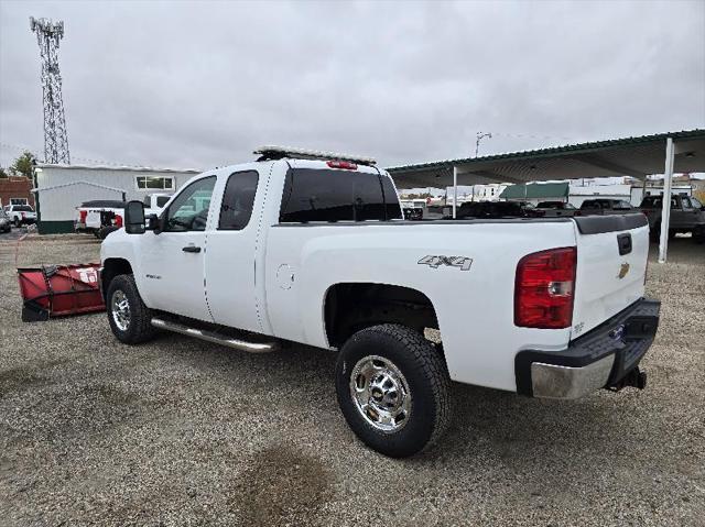
[[[649,224],[642,213],[575,218],[577,270],[571,339],[643,296]]]

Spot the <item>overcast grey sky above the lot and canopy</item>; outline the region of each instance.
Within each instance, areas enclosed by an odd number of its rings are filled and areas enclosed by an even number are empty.
[[[0,0],[0,164],[43,157],[29,17],[65,22],[74,163],[209,168],[259,144],[382,166],[705,127],[705,2]]]

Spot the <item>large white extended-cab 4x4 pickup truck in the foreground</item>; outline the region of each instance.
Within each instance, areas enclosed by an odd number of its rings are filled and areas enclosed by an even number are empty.
[[[449,381],[563,399],[644,387],[660,304],[643,297],[643,215],[406,221],[372,160],[256,153],[159,217],[128,204],[101,246],[120,341],[335,351],[343,415],[391,457],[441,437]]]

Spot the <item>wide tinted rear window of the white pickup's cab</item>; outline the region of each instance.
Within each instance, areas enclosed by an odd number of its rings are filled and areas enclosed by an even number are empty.
[[[286,174],[279,220],[384,220],[387,204],[382,185],[378,174],[294,168]]]

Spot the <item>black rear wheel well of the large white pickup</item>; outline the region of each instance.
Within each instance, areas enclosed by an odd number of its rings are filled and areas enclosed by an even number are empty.
[[[388,284],[336,284],[326,293],[328,343],[340,347],[356,331],[378,323],[401,323],[423,334],[438,329],[433,304],[423,293]]]

